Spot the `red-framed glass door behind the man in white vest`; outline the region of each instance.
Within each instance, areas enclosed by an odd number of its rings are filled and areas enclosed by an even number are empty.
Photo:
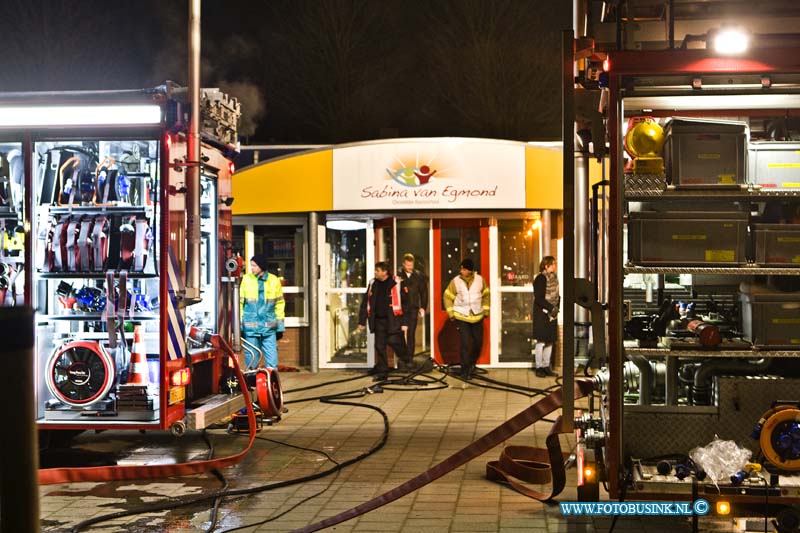
[[[438,363],[458,364],[459,336],[448,320],[443,293],[450,281],[458,276],[459,263],[471,258],[475,270],[489,283],[489,221],[486,219],[435,220],[433,223],[434,272],[432,275],[433,355]],[[491,318],[489,319],[491,320]],[[478,364],[490,362],[489,320],[483,321],[483,349]]]

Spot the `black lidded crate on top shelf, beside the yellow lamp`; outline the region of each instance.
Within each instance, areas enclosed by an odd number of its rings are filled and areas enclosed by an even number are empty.
[[[746,123],[672,118],[665,132],[667,178],[676,188],[746,186]]]

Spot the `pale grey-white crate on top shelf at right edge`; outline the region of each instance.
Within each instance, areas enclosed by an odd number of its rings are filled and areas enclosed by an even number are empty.
[[[748,145],[749,181],[767,190],[800,190],[800,143],[764,141]]]

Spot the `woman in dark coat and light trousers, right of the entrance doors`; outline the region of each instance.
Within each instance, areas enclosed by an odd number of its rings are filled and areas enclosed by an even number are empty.
[[[533,338],[536,376],[555,376],[550,369],[553,343],[558,337],[559,295],[556,259],[548,255],[539,264],[539,275],[533,280]]]

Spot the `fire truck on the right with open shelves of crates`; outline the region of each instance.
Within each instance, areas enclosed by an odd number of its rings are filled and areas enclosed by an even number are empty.
[[[800,49],[786,35],[715,49],[721,33],[656,50],[565,41],[565,174],[594,243],[576,268],[593,290],[573,293],[605,323],[600,409],[575,418],[579,495],[604,482],[612,499],[705,499],[712,514],[758,505],[796,531]],[[593,195],[578,185],[592,157],[607,165]]]

